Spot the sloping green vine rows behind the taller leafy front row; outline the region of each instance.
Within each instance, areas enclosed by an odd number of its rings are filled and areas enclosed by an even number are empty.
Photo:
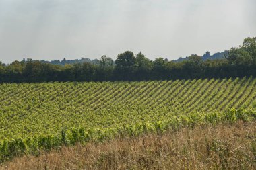
[[[0,138],[110,128],[195,112],[253,108],[256,79],[0,85]]]

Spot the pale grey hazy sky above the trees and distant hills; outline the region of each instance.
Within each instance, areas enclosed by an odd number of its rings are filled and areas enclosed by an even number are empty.
[[[255,0],[0,0],[0,60],[169,60],[256,36]]]

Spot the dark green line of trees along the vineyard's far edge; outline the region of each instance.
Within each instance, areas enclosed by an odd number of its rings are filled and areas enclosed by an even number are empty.
[[[32,59],[0,62],[0,83],[49,81],[147,81],[194,78],[256,76],[256,37],[245,38],[238,48],[228,50],[226,58],[202,60],[191,55],[188,60],[174,62],[150,60],[141,52],[126,51],[112,58],[102,56],[99,64],[90,62],[53,65]]]

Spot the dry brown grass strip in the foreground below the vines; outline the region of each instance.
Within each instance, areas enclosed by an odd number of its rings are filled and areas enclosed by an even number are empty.
[[[0,169],[256,169],[256,122],[77,144]]]

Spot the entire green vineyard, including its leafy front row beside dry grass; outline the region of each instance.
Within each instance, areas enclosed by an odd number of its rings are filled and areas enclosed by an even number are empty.
[[[251,120],[256,117],[255,83],[253,77],[4,83],[0,85],[0,160],[61,144]]]

